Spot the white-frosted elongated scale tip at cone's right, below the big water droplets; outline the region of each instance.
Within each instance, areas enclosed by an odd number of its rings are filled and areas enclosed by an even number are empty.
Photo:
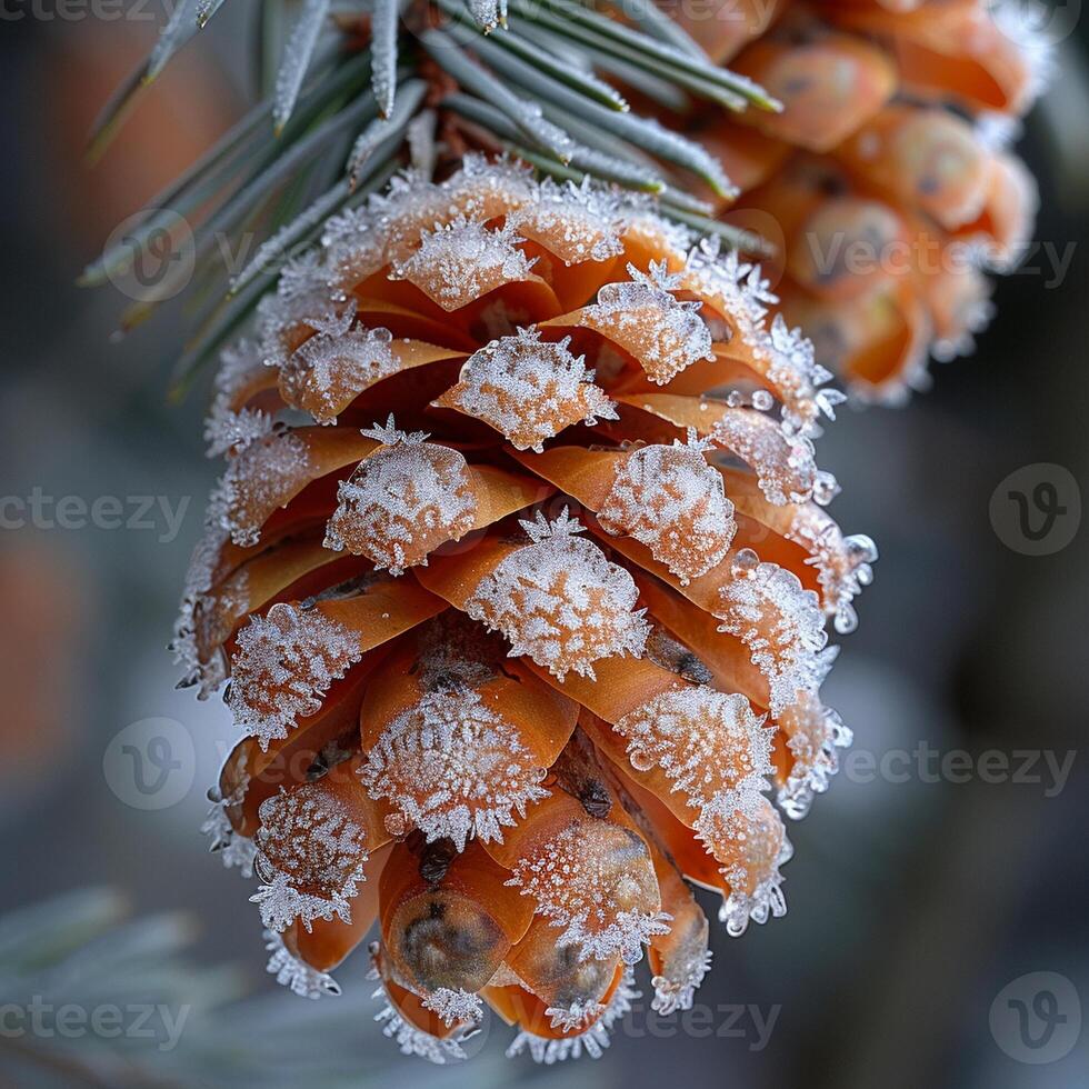
[[[768,679],[770,710],[778,715],[799,692],[816,691],[831,665],[820,602],[798,576],[761,563],[751,549],[738,555],[735,579],[719,591],[719,631],[737,636]]]

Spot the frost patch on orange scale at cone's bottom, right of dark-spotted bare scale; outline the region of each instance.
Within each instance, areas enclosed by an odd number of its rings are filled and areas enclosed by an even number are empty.
[[[643,850],[646,850],[643,848]],[[579,958],[606,960],[620,955],[626,965],[642,957],[655,935],[669,933],[670,916],[625,907],[645,891],[639,876],[618,859],[630,856],[630,833],[619,826],[588,842],[572,825],[518,860],[507,885],[531,896],[538,915],[562,927],[560,946],[577,946]]]

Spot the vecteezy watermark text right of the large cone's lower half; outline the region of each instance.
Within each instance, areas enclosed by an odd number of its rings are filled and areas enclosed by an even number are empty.
[[[1062,793],[1073,770],[1078,753],[1068,749],[986,749],[980,753],[967,749],[937,749],[920,741],[913,749],[888,749],[877,755],[867,749],[851,749],[842,761],[841,775],[866,786],[877,780],[891,783],[950,782],[961,785],[978,780],[989,786],[1042,787],[1045,798]]]

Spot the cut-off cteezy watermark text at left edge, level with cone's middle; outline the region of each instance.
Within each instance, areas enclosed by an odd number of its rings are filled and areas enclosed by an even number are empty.
[[[192,496],[49,496],[34,487],[27,496],[0,496],[0,529],[149,530],[169,544],[178,536]]]

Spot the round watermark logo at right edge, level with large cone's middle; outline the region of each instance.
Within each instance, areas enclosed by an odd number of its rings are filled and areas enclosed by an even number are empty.
[[[1062,466],[1022,466],[991,493],[991,526],[998,539],[1021,556],[1060,552],[1081,524],[1081,489]]]

